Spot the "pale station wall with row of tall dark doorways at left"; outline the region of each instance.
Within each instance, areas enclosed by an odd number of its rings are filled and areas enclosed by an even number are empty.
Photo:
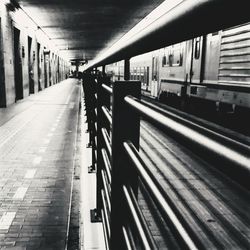
[[[22,10],[0,2],[0,107],[37,93],[69,72],[51,41]]]

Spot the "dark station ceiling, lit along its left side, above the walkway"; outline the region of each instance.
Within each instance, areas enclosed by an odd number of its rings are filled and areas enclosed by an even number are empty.
[[[96,57],[163,0],[19,0],[70,60]]]

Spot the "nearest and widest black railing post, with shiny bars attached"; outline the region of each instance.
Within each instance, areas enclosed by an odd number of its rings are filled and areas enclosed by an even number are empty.
[[[123,142],[131,141],[139,148],[140,117],[131,111],[124,97],[133,95],[140,98],[141,84],[138,81],[117,81],[113,84],[112,97],[112,184],[111,184],[111,239],[112,250],[126,247],[122,236],[122,225],[126,223],[126,205],[122,186],[130,182],[135,194],[138,189],[137,173],[129,165],[123,150]]]

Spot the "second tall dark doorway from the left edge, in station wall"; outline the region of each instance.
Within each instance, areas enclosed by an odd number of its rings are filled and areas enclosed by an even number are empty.
[[[15,71],[15,101],[23,98],[22,59],[20,53],[20,30],[14,28],[14,71]]]

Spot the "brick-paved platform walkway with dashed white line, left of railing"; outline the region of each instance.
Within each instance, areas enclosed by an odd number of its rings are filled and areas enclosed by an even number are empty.
[[[81,171],[88,165],[88,151],[80,150],[87,139],[80,136],[81,95],[81,83],[68,79],[0,110],[0,249],[69,249],[71,211],[73,227],[88,226],[87,206],[95,204],[87,189],[95,180]],[[82,249],[102,249],[93,230],[81,227],[82,237],[73,237]]]

